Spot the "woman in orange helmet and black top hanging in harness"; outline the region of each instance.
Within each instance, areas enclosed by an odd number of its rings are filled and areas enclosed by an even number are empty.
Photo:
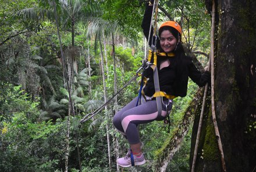
[[[150,32],[152,10],[152,2],[147,3],[141,24],[146,38],[148,38]],[[165,119],[172,109],[173,98],[186,96],[189,77],[198,86],[204,86],[210,80],[209,72],[201,74],[191,58],[184,53],[181,43],[182,28],[177,22],[166,21],[163,23],[159,28],[158,35],[159,38],[156,39],[157,70],[159,88],[162,93],[162,111],[159,113],[157,107],[154,69],[149,67],[143,72],[147,82],[143,88],[144,98],[141,99],[141,104],[136,106],[138,99],[136,97],[113,117],[113,125],[127,138],[130,144],[126,156],[116,160],[119,166],[122,167],[138,166],[145,163],[144,155],[141,152],[143,144],[140,141],[137,128],[139,124]],[[148,42],[151,46],[152,34]],[[153,44],[155,45],[154,40]]]

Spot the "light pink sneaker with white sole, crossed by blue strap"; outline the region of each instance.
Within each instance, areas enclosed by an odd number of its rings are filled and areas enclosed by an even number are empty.
[[[134,166],[141,166],[146,162],[143,153],[140,155],[140,157],[133,156],[133,160],[134,160]],[[121,167],[130,167],[131,166],[130,151],[126,154],[125,157],[117,159],[116,163],[118,163],[118,165]]]

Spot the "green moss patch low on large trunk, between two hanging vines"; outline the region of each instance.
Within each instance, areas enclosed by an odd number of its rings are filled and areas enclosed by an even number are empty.
[[[202,157],[208,162],[215,161],[220,158],[214,125],[211,122],[211,115],[208,117],[208,125],[206,127],[205,141],[202,151]]]

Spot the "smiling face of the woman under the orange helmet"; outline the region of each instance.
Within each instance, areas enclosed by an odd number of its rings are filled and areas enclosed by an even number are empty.
[[[170,53],[176,48],[177,39],[169,30],[164,30],[160,35],[160,45],[165,53]]]

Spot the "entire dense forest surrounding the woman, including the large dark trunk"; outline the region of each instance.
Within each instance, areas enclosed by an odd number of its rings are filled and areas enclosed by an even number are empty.
[[[189,80],[170,132],[161,121],[139,126],[146,164],[116,165],[129,144],[112,118],[137,96],[140,78],[113,95],[148,54],[145,2],[0,2],[0,171],[256,172],[253,0],[159,1],[157,22],[179,21],[183,47],[211,71],[211,85]]]

